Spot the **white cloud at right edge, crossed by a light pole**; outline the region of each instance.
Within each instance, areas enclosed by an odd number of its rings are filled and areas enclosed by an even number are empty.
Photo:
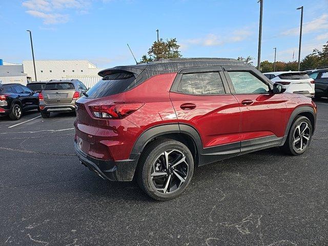
[[[328,14],[323,14],[311,22],[303,23],[302,33],[311,33],[328,29]],[[299,27],[292,28],[281,33],[282,35],[299,35]]]

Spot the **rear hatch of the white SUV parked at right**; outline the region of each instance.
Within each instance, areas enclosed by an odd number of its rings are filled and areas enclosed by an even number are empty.
[[[296,73],[282,73],[278,76],[281,83],[286,86],[288,91],[308,91],[310,93],[314,92],[314,84],[311,81],[314,81],[306,72],[296,72]]]

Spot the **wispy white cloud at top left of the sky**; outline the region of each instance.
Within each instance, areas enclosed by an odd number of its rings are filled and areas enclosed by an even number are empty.
[[[65,9],[76,9],[78,14],[87,14],[86,8],[92,0],[28,0],[22,5],[28,10],[26,13],[42,18],[45,25],[66,23],[68,14],[61,14]]]

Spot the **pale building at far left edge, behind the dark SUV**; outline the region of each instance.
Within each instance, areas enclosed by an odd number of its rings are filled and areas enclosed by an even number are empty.
[[[0,59],[0,84],[19,83],[25,85],[31,81],[24,73],[23,64],[7,63]]]

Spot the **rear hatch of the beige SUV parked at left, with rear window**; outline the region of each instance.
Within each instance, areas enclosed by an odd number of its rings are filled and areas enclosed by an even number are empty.
[[[74,93],[74,85],[69,82],[47,83],[42,91],[45,104],[70,104]]]

